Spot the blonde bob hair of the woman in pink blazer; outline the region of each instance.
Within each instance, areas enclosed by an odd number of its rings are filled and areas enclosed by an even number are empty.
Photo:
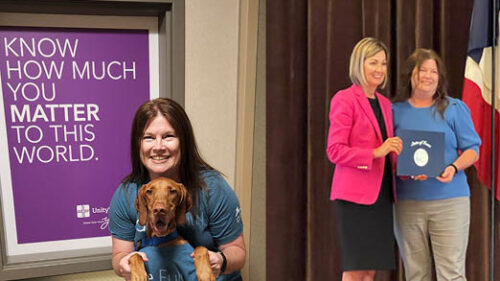
[[[351,82],[363,86],[366,85],[364,63],[365,59],[374,56],[380,51],[384,51],[385,57],[389,60],[389,55],[387,47],[382,41],[375,39],[373,37],[365,37],[361,39],[351,53],[351,61],[349,63],[349,78]],[[384,76],[384,82],[381,84],[381,88],[385,87],[387,83],[387,74]]]

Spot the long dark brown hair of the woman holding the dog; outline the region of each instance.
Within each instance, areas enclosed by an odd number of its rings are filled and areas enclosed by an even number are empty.
[[[200,171],[215,169],[205,162],[198,152],[193,128],[186,112],[182,106],[171,99],[158,98],[145,102],[135,112],[134,120],[132,121],[132,133],[130,135],[132,172],[122,180],[122,183],[125,186],[128,183],[142,185],[149,180],[148,171],[140,158],[141,140],[144,135],[144,129],[158,114],[163,115],[168,120],[179,138],[181,150],[179,176],[181,183],[186,186],[193,197],[191,212],[197,214],[198,197],[200,191],[205,188],[205,182],[200,176]]]

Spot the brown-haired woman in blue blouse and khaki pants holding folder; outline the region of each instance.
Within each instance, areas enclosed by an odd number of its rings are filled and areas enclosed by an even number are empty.
[[[440,176],[398,178],[395,234],[407,281],[466,280],[470,191],[464,169],[478,159],[481,140],[467,106],[447,96],[444,65],[432,50],[408,58],[407,85],[393,105],[398,130],[445,134],[445,167]]]

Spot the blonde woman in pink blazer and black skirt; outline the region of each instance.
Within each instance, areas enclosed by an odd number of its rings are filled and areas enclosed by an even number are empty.
[[[390,101],[377,92],[387,80],[387,47],[374,38],[351,54],[352,86],[330,106],[328,158],[335,164],[334,200],[343,281],[371,281],[376,270],[395,268],[393,167],[402,149],[393,137]]]

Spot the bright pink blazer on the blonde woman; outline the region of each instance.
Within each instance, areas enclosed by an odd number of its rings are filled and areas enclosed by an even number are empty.
[[[393,136],[391,102],[376,93],[384,116],[387,137]],[[326,153],[335,166],[330,199],[370,205],[377,200],[385,157],[373,159],[382,135],[368,98],[361,87],[340,90],[330,104],[330,129]],[[396,155],[391,153],[392,167]],[[394,175],[394,169],[393,169]],[[394,180],[393,180],[394,183]],[[395,188],[393,185],[393,194]],[[396,198],[396,197],[394,197]]]

